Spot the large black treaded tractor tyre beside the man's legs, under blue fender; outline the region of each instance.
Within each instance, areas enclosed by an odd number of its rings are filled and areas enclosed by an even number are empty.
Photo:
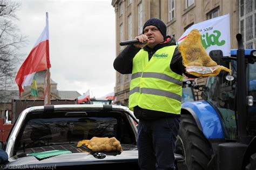
[[[181,115],[175,153],[184,156],[187,170],[207,169],[211,160],[211,144],[190,114]]]

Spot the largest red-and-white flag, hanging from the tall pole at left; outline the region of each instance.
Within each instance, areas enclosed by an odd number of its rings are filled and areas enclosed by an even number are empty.
[[[22,86],[30,86],[36,72],[46,70],[51,67],[49,58],[49,28],[48,13],[46,12],[46,26],[37,39],[36,44],[30,51],[16,75],[15,81],[19,87],[19,96],[24,92]]]

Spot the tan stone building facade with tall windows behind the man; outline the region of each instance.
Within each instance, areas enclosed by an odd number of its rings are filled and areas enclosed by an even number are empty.
[[[112,6],[116,12],[116,55],[124,49],[119,42],[142,34],[143,24],[152,17],[164,21],[167,35],[177,40],[191,25],[229,14],[231,49],[237,48],[237,33],[244,37],[246,48],[255,48],[255,0],[112,0]],[[130,74],[116,73],[116,101],[125,106],[130,79]]]

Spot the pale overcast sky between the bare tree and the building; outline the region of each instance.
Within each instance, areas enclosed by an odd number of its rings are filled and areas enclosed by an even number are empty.
[[[111,0],[21,2],[18,26],[29,39],[23,49],[26,56],[44,29],[45,12],[49,13],[50,72],[58,90],[80,94],[90,90],[95,97],[114,91],[116,26]]]

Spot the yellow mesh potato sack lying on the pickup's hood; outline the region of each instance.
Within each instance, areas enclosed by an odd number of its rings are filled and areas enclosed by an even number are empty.
[[[90,140],[81,140],[78,142],[77,147],[85,145],[92,152],[109,152],[109,151],[123,151],[120,142],[116,138],[98,138],[93,137]]]

